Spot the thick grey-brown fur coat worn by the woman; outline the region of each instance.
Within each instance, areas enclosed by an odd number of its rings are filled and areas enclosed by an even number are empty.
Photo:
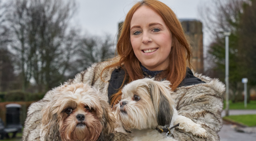
[[[87,70],[77,74],[74,79],[71,79],[65,84],[72,83],[88,83],[100,92],[108,94],[108,80],[111,78],[111,73],[117,67],[107,69],[100,78],[102,69],[113,63],[112,60],[107,62],[99,62],[93,64]],[[175,129],[174,139],[178,141],[220,141],[218,132],[223,126],[221,112],[223,109],[223,93],[225,86],[218,79],[210,79],[201,74],[195,74],[196,77],[206,83],[200,83],[192,86],[183,86],[176,88],[173,95],[176,96],[176,109],[179,115],[190,118],[195,123],[200,124],[207,131],[208,138],[198,138],[191,133],[183,130]],[[23,131],[22,141],[39,141],[40,126],[42,120],[41,110],[51,100],[52,90],[46,93],[45,97],[38,102],[31,104],[28,108],[27,118]]]

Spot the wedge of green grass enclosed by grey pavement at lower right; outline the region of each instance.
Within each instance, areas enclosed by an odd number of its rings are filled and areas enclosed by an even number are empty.
[[[223,119],[231,120],[249,127],[256,126],[256,115],[225,116]]]

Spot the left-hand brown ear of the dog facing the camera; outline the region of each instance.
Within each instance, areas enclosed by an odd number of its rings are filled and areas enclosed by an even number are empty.
[[[42,110],[42,125],[45,141],[60,141],[61,137],[59,134],[59,118],[57,117],[57,113],[53,113],[56,109],[52,107],[52,104],[49,103]],[[44,133],[44,134],[43,134]]]

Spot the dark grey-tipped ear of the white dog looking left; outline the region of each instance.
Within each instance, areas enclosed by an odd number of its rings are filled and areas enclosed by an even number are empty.
[[[171,83],[169,81],[151,81],[149,82],[149,94],[156,111],[157,122],[161,126],[171,124],[173,116],[173,105],[171,98]]]

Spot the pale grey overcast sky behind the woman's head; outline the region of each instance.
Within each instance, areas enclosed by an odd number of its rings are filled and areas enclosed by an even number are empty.
[[[199,19],[197,7],[209,0],[160,0],[168,5],[178,18]],[[110,34],[118,32],[118,23],[125,19],[135,0],[76,0],[78,11],[72,23],[81,28],[83,34]],[[205,42],[205,41],[204,41]]]

